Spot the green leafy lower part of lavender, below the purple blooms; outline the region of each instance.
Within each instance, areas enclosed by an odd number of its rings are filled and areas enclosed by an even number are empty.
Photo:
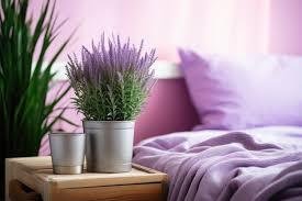
[[[77,108],[91,121],[134,120],[148,94],[133,75],[124,75],[123,81],[104,79],[99,86],[79,83],[75,92]]]

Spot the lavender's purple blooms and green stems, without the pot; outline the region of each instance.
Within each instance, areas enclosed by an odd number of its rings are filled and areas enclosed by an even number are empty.
[[[155,49],[143,51],[120,36],[107,38],[92,51],[81,49],[81,60],[69,55],[66,70],[75,89],[75,104],[87,121],[130,121],[141,112],[154,83],[149,67],[156,60]],[[144,53],[143,53],[144,52]]]

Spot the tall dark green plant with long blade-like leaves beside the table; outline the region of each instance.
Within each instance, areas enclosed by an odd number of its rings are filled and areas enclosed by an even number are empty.
[[[46,103],[49,83],[55,76],[53,65],[70,38],[51,54],[48,49],[63,25],[56,23],[55,3],[46,0],[35,19],[29,13],[30,3],[30,0],[0,1],[1,197],[4,158],[37,155],[41,138],[63,119],[65,110],[53,119],[49,116],[69,90],[65,88]]]

